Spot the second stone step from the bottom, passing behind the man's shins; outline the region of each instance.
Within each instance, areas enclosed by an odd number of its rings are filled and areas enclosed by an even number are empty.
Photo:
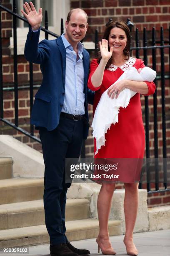
[[[90,218],[87,199],[67,199],[66,221]],[[45,224],[43,200],[0,205],[0,230]]]

